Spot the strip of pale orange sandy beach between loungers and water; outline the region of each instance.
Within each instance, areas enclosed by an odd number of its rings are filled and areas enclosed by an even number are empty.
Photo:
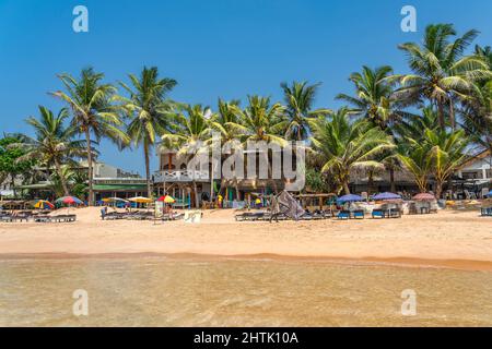
[[[492,220],[443,210],[401,219],[236,222],[234,210],[204,212],[201,224],[103,221],[72,209],[72,224],[0,224],[0,254],[175,254],[364,260],[492,270]]]

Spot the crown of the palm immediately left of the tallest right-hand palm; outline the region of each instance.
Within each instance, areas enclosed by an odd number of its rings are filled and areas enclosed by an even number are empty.
[[[362,73],[352,73],[350,81],[355,85],[355,96],[339,94],[337,99],[353,107],[352,111],[382,129],[388,123],[408,117],[393,96],[395,83],[389,79],[393,68],[389,65],[371,69],[362,68]]]

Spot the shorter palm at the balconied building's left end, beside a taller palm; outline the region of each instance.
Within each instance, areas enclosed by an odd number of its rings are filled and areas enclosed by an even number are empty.
[[[188,155],[188,159],[196,158],[204,152],[209,152],[207,141],[210,137],[209,121],[206,116],[209,108],[201,105],[184,106],[177,115],[169,128],[162,136],[162,146],[167,149],[179,149],[178,154]],[[191,176],[195,205],[199,207],[198,189],[196,174]]]

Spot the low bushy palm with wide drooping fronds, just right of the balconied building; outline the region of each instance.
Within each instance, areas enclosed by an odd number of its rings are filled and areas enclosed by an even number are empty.
[[[390,137],[367,120],[350,122],[349,110],[342,108],[328,118],[311,122],[314,152],[323,157],[321,172],[333,174],[345,194],[350,194],[350,172],[358,168],[380,168],[375,158],[393,149]]]

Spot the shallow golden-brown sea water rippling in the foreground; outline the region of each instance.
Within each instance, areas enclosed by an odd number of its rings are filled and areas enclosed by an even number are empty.
[[[74,316],[73,291],[89,294]],[[415,291],[403,316],[401,292]],[[492,326],[492,273],[276,260],[0,260],[0,326]]]

